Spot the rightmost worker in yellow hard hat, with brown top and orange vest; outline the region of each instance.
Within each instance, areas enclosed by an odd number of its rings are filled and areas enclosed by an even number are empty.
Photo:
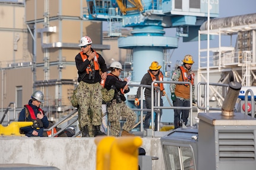
[[[182,81],[191,82],[192,85],[192,102],[195,103],[195,85],[194,85],[194,73],[191,70],[191,66],[194,60],[191,55],[186,55],[182,60],[183,66],[179,66],[172,74],[170,81]],[[171,98],[174,107],[190,107],[190,88],[189,84],[170,84]],[[179,121],[182,119],[187,125],[189,110],[174,110],[174,128],[177,129],[182,124]]]

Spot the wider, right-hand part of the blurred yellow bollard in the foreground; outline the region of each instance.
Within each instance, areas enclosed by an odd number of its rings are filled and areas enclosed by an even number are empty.
[[[138,147],[142,145],[141,137],[119,137],[113,141],[110,150],[110,170],[137,170]]]

